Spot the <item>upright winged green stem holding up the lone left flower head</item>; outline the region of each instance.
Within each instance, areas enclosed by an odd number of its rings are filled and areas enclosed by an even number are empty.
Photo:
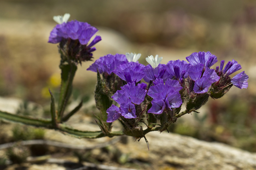
[[[63,117],[65,108],[67,106],[68,100],[72,93],[72,82],[77,70],[75,64],[62,64],[61,68],[61,86],[60,86],[60,98],[59,98],[59,108],[58,108],[58,120],[61,121]]]

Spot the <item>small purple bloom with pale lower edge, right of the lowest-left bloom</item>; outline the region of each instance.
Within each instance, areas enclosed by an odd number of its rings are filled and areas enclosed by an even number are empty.
[[[131,103],[131,100],[128,99],[127,102],[120,105],[121,114],[127,119],[136,118],[135,105]]]

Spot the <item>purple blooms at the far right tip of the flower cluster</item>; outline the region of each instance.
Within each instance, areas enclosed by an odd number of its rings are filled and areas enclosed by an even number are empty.
[[[233,74],[234,72],[240,70],[242,67],[240,64],[238,64],[238,62],[236,60],[232,60],[229,61],[225,68],[223,69],[223,66],[224,66],[224,63],[225,61],[224,60],[221,60],[220,62],[220,67],[216,67],[216,72],[218,73],[219,76],[223,77],[222,79],[224,79],[225,81],[230,81],[230,78],[228,78],[231,74]],[[223,69],[223,70],[222,70]],[[248,76],[243,72],[237,74],[236,76],[234,76],[232,79],[231,79],[231,83],[242,89],[242,88],[247,88],[248,87]],[[226,83],[228,83],[226,82]]]

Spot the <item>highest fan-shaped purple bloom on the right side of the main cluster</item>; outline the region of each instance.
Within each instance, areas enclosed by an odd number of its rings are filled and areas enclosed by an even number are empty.
[[[204,64],[204,67],[208,67],[208,68],[214,65],[218,61],[217,57],[211,54],[209,51],[192,53],[190,56],[187,56],[186,59],[192,65],[202,63]]]

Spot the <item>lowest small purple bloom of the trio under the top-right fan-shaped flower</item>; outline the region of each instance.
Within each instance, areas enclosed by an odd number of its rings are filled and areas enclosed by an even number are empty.
[[[209,81],[208,77],[203,76],[200,79],[197,79],[195,81],[195,86],[194,86],[194,92],[201,94],[201,93],[206,93],[208,92],[209,87],[211,86],[211,82]]]

